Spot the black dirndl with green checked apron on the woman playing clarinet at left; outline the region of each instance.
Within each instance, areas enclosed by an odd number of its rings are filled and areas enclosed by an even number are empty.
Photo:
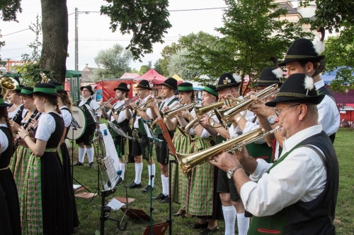
[[[23,193],[23,234],[70,234],[64,173],[57,153],[64,121],[59,114],[49,112],[40,117],[35,128],[37,138],[46,138],[49,126],[55,126],[47,138],[42,157],[31,155],[25,174]]]

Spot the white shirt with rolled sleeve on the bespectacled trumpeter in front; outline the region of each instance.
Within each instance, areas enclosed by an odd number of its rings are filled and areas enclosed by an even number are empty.
[[[312,135],[321,133],[321,125],[299,131],[283,143],[282,155]],[[319,149],[318,149],[319,150]],[[321,150],[319,150],[321,152]],[[274,215],[284,207],[314,200],[326,185],[326,169],[321,157],[308,147],[298,147],[269,173],[272,166],[257,159],[252,181],[241,187],[241,199],[246,210],[258,217]],[[258,183],[256,183],[258,181]]]

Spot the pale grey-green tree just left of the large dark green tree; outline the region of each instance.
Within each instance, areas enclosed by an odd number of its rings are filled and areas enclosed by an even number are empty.
[[[167,66],[169,71],[169,77],[173,76],[175,73],[183,78],[183,80],[190,80],[195,78],[195,76],[200,75],[200,71],[193,69],[190,66],[190,61],[186,57],[189,54],[188,50],[185,48],[178,49],[176,54],[171,56],[169,66]]]

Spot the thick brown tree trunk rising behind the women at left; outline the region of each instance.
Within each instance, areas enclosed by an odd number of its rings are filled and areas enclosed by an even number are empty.
[[[42,55],[40,68],[57,74],[64,83],[67,72],[68,16],[66,0],[41,0]]]

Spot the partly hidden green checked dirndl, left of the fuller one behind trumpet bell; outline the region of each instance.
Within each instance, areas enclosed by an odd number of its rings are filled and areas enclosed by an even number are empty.
[[[189,153],[190,152],[190,135],[183,135],[181,131],[176,129],[173,135],[173,145],[176,147],[176,152]],[[172,165],[172,195],[173,202],[181,204],[181,209],[185,210],[187,207],[187,195],[188,195],[188,178],[183,174],[179,164]]]

